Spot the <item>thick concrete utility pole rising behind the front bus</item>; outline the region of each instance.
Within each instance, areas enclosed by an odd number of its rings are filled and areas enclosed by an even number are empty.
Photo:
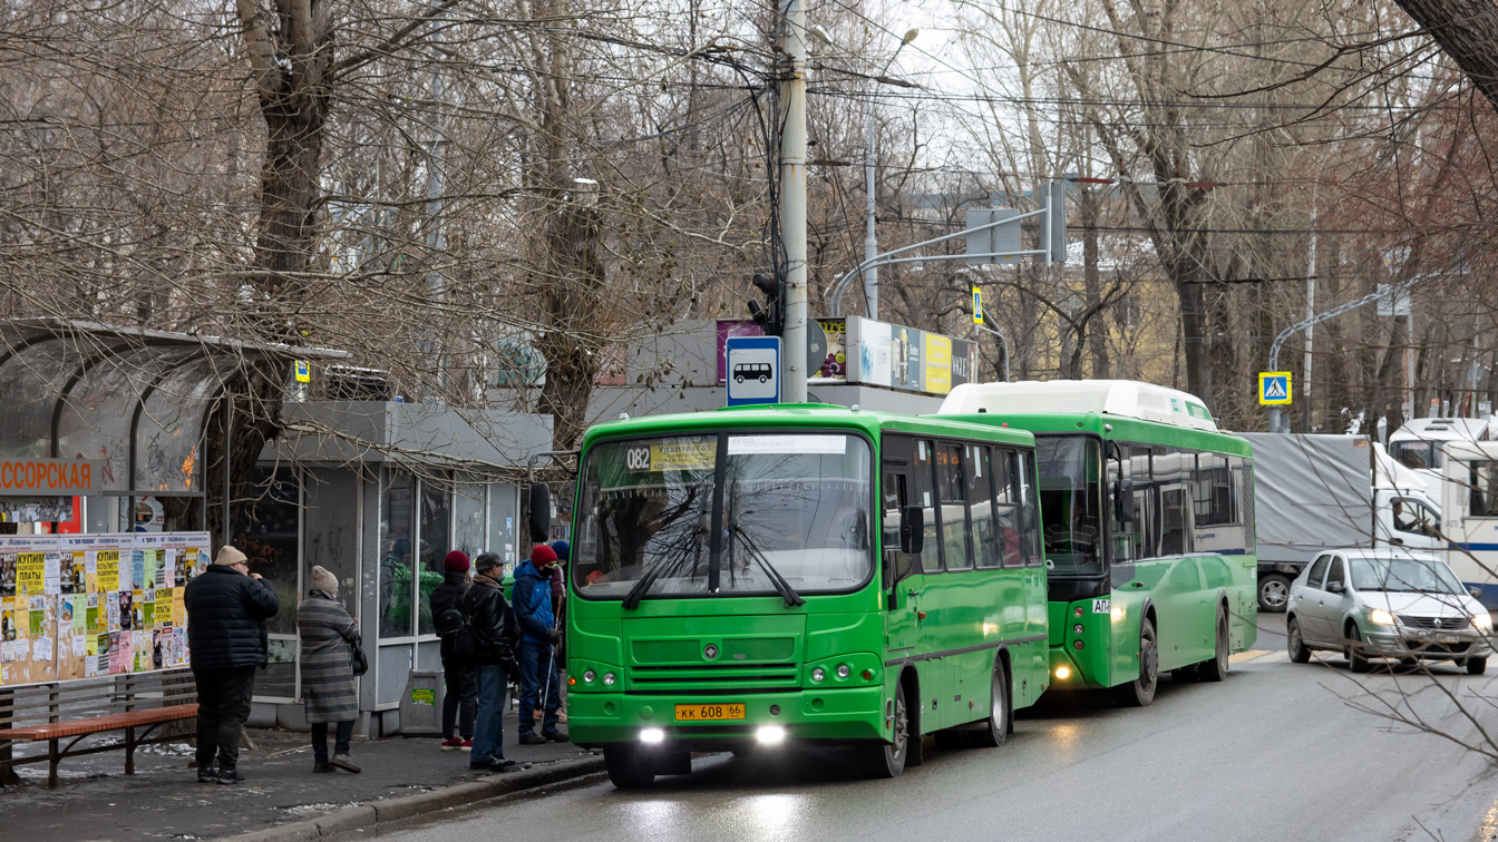
[[[782,400],[806,403],[806,7],[780,6],[780,49],[786,57],[780,106],[780,244],[785,249],[785,327],[780,366]]]

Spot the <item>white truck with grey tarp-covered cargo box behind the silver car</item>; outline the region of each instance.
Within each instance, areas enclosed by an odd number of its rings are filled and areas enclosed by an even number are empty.
[[[1419,478],[1387,460],[1380,466],[1366,437],[1242,436],[1254,448],[1260,611],[1284,611],[1290,581],[1329,548],[1441,547],[1440,506]],[[1498,544],[1494,547],[1498,550]]]

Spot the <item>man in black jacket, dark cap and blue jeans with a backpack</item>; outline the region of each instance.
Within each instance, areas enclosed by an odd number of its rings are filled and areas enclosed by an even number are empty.
[[[463,619],[473,634],[473,662],[478,665],[478,716],[473,722],[473,754],[469,769],[514,772],[515,761],[505,760],[505,691],[515,674],[520,626],[509,610],[499,578],[499,556],[484,553],[473,559],[473,586],[463,595]]]

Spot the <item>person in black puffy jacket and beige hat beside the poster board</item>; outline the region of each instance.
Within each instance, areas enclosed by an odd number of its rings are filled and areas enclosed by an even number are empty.
[[[225,545],[208,569],[187,583],[183,604],[198,682],[198,782],[238,784],[244,781],[235,766],[250,718],[255,668],[268,661],[265,620],[276,616],[280,601],[261,574],[250,572],[244,553]]]

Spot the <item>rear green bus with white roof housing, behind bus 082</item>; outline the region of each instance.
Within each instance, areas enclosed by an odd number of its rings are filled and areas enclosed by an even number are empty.
[[[1132,381],[965,384],[938,415],[1035,434],[1052,686],[1144,706],[1161,673],[1219,682],[1254,644],[1252,452],[1200,400]]]

